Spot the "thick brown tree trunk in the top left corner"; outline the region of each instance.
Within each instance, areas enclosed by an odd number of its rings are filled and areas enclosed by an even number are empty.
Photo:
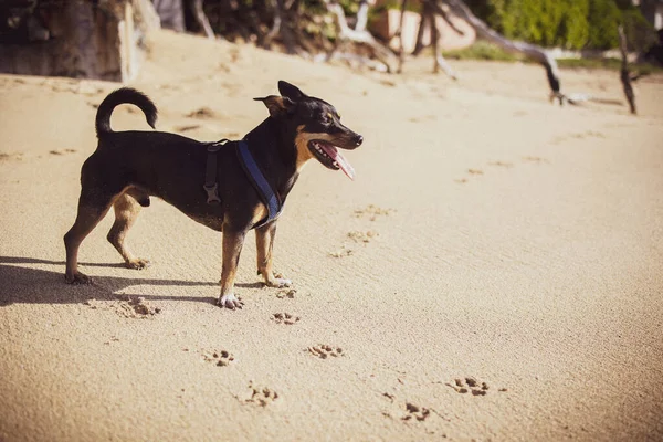
[[[0,71],[126,82],[143,57],[140,36],[159,27],[147,0],[66,1],[49,12],[43,42],[0,44]]]

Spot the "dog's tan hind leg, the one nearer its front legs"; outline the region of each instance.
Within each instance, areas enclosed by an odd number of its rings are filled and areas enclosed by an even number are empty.
[[[135,193],[135,192],[133,192]],[[141,198],[139,194],[137,197]],[[147,198],[147,197],[145,197]],[[106,236],[108,242],[119,252],[128,269],[146,269],[149,266],[148,260],[134,256],[125,244],[125,238],[128,230],[134,225],[138,213],[140,213],[140,203],[129,194],[129,191],[120,194],[113,203],[115,210],[115,222]]]

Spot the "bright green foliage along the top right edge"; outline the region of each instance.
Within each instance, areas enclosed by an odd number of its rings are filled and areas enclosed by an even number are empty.
[[[467,0],[472,11],[508,39],[541,46],[611,49],[617,27],[643,48],[651,29],[630,0]]]

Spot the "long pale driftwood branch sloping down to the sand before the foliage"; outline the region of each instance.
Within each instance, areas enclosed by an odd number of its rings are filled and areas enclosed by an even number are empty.
[[[465,20],[476,32],[478,36],[488,40],[505,51],[517,52],[526,55],[527,57],[540,63],[546,70],[546,77],[550,85],[550,99],[559,99],[559,104],[565,101],[565,95],[561,93],[561,85],[559,82],[559,72],[557,69],[557,62],[545,49],[537,46],[536,44],[529,44],[524,42],[517,42],[506,39],[504,35],[495,32],[486,23],[476,18],[465,6],[462,0],[441,0],[448,4],[452,12]]]

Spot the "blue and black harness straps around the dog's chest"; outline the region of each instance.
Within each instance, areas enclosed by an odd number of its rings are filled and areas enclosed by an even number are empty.
[[[217,152],[227,143],[229,143],[228,139],[222,139],[220,141],[209,144],[207,148],[208,159],[203,189],[208,194],[208,204],[219,204],[221,202],[217,182]],[[278,218],[283,211],[283,204],[281,203],[276,192],[265,179],[263,172],[260,170],[260,167],[255,162],[253,155],[251,155],[251,150],[249,150],[249,145],[246,141],[243,139],[238,141],[235,150],[238,154],[238,159],[240,160],[240,165],[242,165],[242,169],[244,170],[244,173],[246,173],[246,178],[249,178],[249,181],[251,181],[261,200],[267,208],[267,217],[254,225],[254,228],[263,227]]]

